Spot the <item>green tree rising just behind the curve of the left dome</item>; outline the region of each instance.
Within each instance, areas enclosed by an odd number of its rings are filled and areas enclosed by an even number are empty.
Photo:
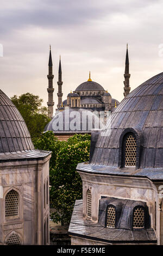
[[[41,106],[43,100],[37,95],[26,93],[21,96],[14,95],[11,97],[11,101],[21,113],[34,142],[50,121],[48,109]]]

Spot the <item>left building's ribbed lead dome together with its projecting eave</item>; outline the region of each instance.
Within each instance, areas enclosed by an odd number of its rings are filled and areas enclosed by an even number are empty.
[[[0,161],[42,157],[50,154],[34,150],[26,123],[15,105],[0,90]]]

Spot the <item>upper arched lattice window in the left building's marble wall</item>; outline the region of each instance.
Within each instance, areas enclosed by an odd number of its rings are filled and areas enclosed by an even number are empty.
[[[5,196],[5,217],[18,216],[18,193],[10,190]]]

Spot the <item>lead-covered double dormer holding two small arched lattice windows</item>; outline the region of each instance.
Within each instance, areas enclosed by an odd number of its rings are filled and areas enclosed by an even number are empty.
[[[105,228],[146,230],[151,228],[146,202],[102,197],[99,200],[98,223]]]

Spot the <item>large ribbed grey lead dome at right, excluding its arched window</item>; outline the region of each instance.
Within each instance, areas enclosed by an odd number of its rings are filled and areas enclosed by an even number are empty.
[[[99,133],[91,163],[117,168],[120,137],[131,128],[142,135],[139,169],[153,168],[158,178],[155,168],[163,168],[162,117],[163,72],[142,83],[118,105],[111,114],[111,133],[108,135],[108,121]],[[144,172],[140,175],[147,175],[147,170]]]

